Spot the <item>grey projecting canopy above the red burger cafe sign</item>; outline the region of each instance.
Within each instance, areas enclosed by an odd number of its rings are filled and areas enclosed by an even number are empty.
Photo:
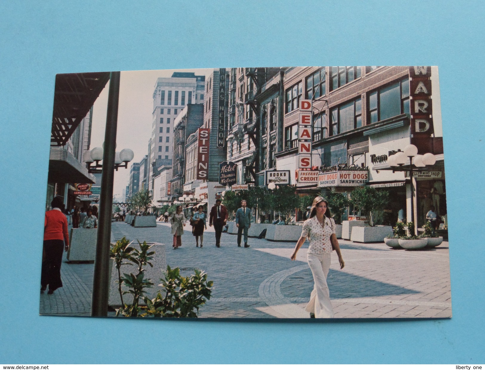
[[[50,148],[49,183],[94,184],[96,178],[67,150]]]

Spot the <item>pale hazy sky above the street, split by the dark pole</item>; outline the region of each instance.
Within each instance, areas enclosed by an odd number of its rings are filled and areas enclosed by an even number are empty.
[[[213,69],[164,69],[122,71],[118,103],[116,151],[129,148],[133,160],[128,168],[114,171],[113,196],[121,198],[129,184],[129,168],[148,154],[148,141],[152,132],[153,91],[159,77],[171,77],[175,71],[194,72],[196,75],[212,74]],[[109,83],[106,84],[93,106],[91,147],[100,147],[104,141]]]

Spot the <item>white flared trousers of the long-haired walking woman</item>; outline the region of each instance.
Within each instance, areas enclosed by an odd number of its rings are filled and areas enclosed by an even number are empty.
[[[315,314],[316,319],[332,319],[334,317],[330,291],[327,285],[327,275],[330,269],[332,253],[308,253],[307,260],[313,275],[313,290],[305,310]]]

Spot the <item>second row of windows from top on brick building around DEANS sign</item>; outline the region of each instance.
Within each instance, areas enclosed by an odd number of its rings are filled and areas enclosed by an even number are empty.
[[[409,80],[403,78],[367,94],[368,124],[409,114]],[[313,117],[313,141],[327,136],[342,134],[362,127],[362,99],[346,101],[330,109],[330,122],[327,132],[325,112]],[[285,128],[285,149],[295,148],[298,142],[298,124]]]

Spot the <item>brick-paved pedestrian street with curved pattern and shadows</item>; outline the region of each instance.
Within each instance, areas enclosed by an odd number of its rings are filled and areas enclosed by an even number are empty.
[[[223,234],[216,248],[212,228],[204,233],[204,248],[195,248],[190,227],[182,247],[171,248],[169,223],[133,228],[113,222],[112,239],[122,236],[166,245],[167,263],[189,275],[202,269],[214,281],[212,298],[199,311],[202,318],[308,318],[304,310],[313,287],[306,246],[297,261],[289,256],[294,242],[250,238],[250,248],[238,248],[236,235]],[[384,243],[340,240],[345,268],[332,256],[328,275],[336,318],[451,317],[448,242],[433,250],[389,249]],[[64,261],[64,286],[41,294],[44,315],[89,316],[93,264]],[[158,283],[158,282],[156,282]]]

